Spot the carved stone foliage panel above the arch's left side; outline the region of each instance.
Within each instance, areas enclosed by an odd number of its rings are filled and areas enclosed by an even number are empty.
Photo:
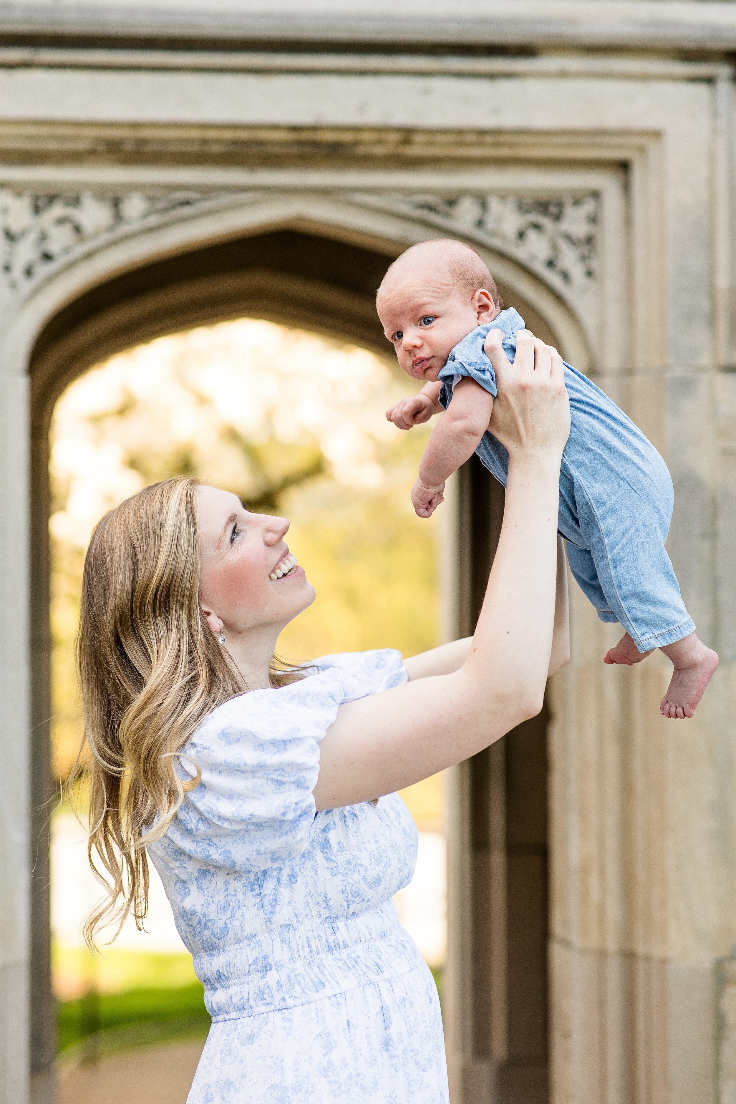
[[[0,188],[2,275],[13,290],[96,238],[213,199],[199,192],[147,195],[35,194]]]

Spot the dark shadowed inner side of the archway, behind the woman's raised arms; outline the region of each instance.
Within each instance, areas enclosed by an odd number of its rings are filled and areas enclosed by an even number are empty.
[[[460,473],[461,630],[472,631],[503,518],[473,456]],[[546,1104],[546,708],[462,765],[470,885],[463,1104]]]

